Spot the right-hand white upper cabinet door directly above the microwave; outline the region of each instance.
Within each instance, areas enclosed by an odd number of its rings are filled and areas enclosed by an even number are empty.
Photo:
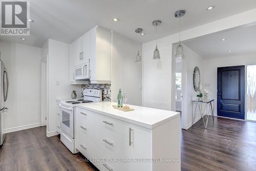
[[[81,63],[89,62],[91,55],[91,32],[82,36],[82,59]]]

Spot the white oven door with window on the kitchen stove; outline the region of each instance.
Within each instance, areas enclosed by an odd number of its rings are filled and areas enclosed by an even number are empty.
[[[59,104],[61,111],[61,131],[74,138],[74,108]]]

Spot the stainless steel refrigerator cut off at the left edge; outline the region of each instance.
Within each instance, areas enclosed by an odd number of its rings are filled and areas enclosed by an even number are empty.
[[[5,101],[8,97],[8,89],[9,89],[9,79],[8,73],[5,68],[5,64],[2,60],[0,60],[0,147],[3,145],[5,140],[5,134],[3,133],[3,116],[7,113],[8,108],[5,106]]]

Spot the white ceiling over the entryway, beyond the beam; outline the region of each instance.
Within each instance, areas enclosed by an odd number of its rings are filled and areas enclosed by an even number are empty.
[[[256,54],[256,24],[204,35],[183,44],[203,58]]]

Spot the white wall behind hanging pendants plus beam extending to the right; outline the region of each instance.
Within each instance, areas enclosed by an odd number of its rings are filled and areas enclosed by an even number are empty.
[[[215,22],[201,25],[181,32],[181,41],[203,36],[226,29],[240,27],[256,22],[256,8],[229,16]],[[161,27],[161,26],[160,26]],[[153,108],[175,110],[174,77],[172,69],[174,55],[172,45],[179,41],[179,33],[158,39],[161,59],[152,59],[156,41],[146,42],[142,45],[143,51],[143,105]],[[166,57],[165,57],[166,56]],[[158,63],[164,64],[163,66]],[[161,66],[161,67],[159,67]],[[184,127],[183,127],[184,128]]]

